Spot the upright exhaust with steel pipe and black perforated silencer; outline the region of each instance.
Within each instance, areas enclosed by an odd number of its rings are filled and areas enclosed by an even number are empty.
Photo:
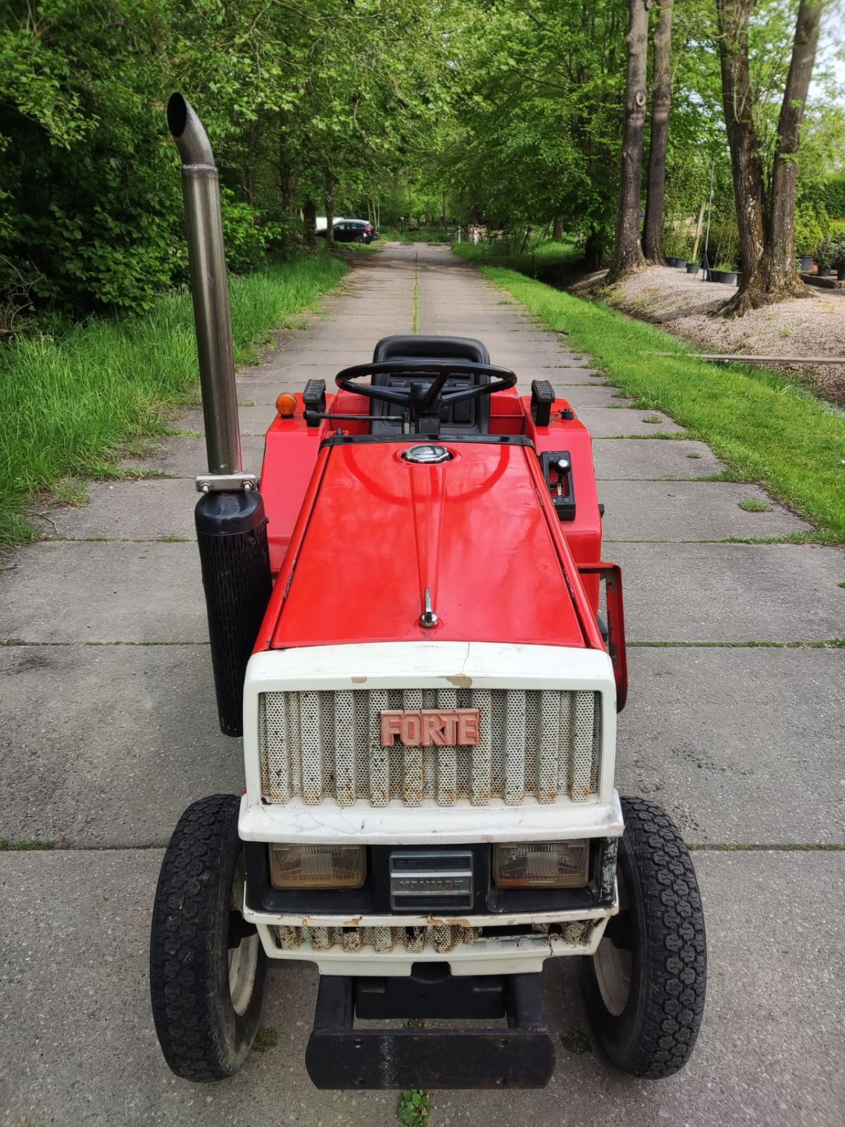
[[[174,94],[167,123],[181,157],[199,382],[208,473],[195,521],[221,730],[243,730],[243,678],[273,589],[267,517],[254,474],[243,473],[234,382],[220,183],[208,137]]]

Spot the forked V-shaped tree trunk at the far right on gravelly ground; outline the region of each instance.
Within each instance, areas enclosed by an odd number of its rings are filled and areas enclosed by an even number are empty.
[[[755,121],[748,34],[756,0],[717,0],[722,100],[739,227],[741,284],[723,308],[737,316],[807,295],[795,267],[795,185],[801,123],[816,60],[822,0],[800,0],[774,152]]]

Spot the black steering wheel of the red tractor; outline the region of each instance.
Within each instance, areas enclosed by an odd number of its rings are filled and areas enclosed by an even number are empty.
[[[492,376],[490,383],[475,383],[472,387],[460,391],[447,391],[443,393],[446,380],[451,375],[464,375],[472,372],[480,372],[483,375]],[[413,383],[411,381],[407,391],[399,388],[379,388],[372,383],[356,383],[363,375],[390,375],[420,376],[420,381],[429,379],[430,383]],[[394,403],[410,412],[411,418],[425,418],[437,416],[441,408],[450,407],[452,403],[463,403],[468,399],[480,399],[482,396],[492,396],[496,391],[505,391],[516,383],[516,373],[509,367],[499,367],[498,364],[480,364],[471,360],[385,360],[379,364],[355,364],[353,367],[345,367],[335,376],[335,383],[344,391],[352,391],[357,396],[365,396],[367,399],[380,399],[385,403]]]

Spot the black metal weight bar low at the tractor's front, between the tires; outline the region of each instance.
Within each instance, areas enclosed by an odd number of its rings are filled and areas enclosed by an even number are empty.
[[[367,1002],[368,991],[379,994],[379,982],[385,980],[320,977],[314,1026],[305,1051],[308,1074],[317,1088],[544,1088],[549,1083],[554,1071],[554,1044],[546,1030],[539,974],[486,976],[463,991],[460,987],[466,979],[462,983],[461,977],[447,976],[446,990],[450,984],[457,987],[468,1003],[462,1017],[506,1015],[507,1029],[355,1029],[356,1011],[358,1017],[389,1015],[375,997]],[[361,991],[357,984],[366,985]],[[430,991],[424,993],[430,995]],[[470,996],[473,993],[478,994],[475,1005]],[[424,1009],[427,1017],[457,1017],[454,1012],[434,1013],[430,997]]]

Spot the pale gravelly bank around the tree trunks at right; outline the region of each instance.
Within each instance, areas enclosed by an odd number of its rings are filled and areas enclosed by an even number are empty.
[[[701,345],[703,352],[845,356],[845,290],[808,290],[809,298],[728,320],[712,314],[735,292],[732,286],[701,282],[669,266],[651,266],[603,296],[624,312]],[[817,394],[845,405],[845,364],[777,366],[799,376]]]

